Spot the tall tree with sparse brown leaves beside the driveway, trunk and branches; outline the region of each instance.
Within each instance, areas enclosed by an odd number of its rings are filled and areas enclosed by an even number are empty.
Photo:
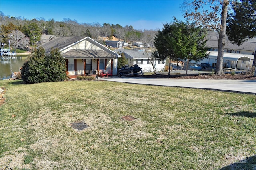
[[[226,20],[229,0],[193,0],[184,1],[185,14],[189,20],[193,20],[197,25],[202,25],[208,29],[219,33],[218,57],[216,64],[216,74],[223,73],[223,54],[226,35]]]

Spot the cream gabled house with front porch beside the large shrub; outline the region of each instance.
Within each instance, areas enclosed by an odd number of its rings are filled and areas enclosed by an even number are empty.
[[[112,70],[117,74],[116,52],[108,49],[90,37],[57,37],[42,44],[46,53],[59,49],[66,59],[69,75],[98,74],[99,70]]]

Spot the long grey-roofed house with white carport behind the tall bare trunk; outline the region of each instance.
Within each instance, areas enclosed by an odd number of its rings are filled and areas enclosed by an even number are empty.
[[[191,61],[191,64],[208,63],[212,67],[216,67],[217,55],[218,55],[218,34],[210,33],[208,35],[208,41],[206,46],[209,48],[209,57],[199,62]],[[232,68],[239,70],[250,70],[252,67],[254,53],[256,49],[256,38],[249,39],[242,45],[232,44],[228,38],[226,38],[226,43],[224,47],[223,54],[223,67]],[[191,65],[190,64],[190,65]]]

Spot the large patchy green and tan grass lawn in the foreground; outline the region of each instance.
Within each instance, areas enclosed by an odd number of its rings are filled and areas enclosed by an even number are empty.
[[[66,81],[6,87],[0,169],[255,169],[256,95]],[[136,120],[127,121],[131,115]],[[84,122],[84,130],[71,123]]]

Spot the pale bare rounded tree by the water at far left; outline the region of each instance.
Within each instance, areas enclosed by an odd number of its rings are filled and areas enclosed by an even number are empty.
[[[8,34],[8,38],[10,40],[10,44],[14,47],[15,52],[18,47],[26,49],[29,45],[29,38],[25,37],[24,33],[19,30],[12,30],[11,33]]]

